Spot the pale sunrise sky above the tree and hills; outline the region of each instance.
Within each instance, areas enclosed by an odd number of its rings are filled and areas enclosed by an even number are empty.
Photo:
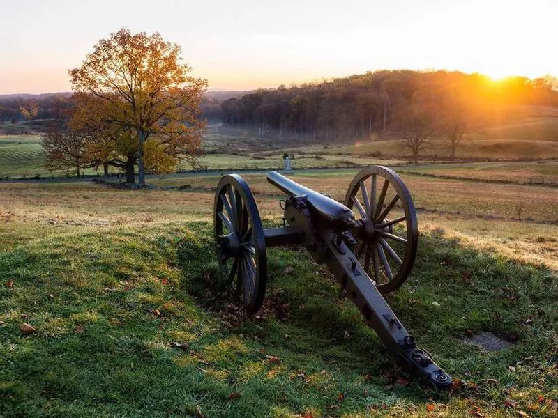
[[[70,91],[99,39],[158,31],[212,90],[379,69],[558,75],[558,0],[0,0],[0,93]]]

